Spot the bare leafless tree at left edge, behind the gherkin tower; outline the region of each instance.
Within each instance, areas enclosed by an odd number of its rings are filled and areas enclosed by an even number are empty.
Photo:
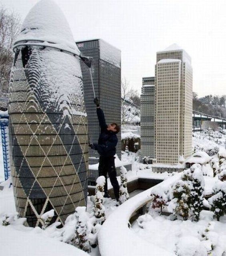
[[[19,28],[18,14],[0,5],[0,98],[8,98],[10,69],[13,61],[12,45]],[[0,107],[2,104],[0,100]]]

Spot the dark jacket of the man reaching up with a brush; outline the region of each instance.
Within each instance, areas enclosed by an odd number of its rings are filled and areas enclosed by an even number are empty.
[[[104,117],[104,112],[101,108],[96,108],[100,124],[100,136],[98,144],[94,143],[94,149],[98,151],[100,156],[114,156],[116,154],[116,145],[118,138],[115,132],[107,130],[107,124]]]

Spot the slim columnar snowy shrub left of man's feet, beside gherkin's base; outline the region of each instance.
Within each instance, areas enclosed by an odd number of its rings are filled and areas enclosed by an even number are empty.
[[[100,176],[96,179],[96,190],[94,196],[94,216],[96,217],[99,224],[102,224],[105,220],[105,208],[103,205],[104,201],[104,184],[105,177]]]

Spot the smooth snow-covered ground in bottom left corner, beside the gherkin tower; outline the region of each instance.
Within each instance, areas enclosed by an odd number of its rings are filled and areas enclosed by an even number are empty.
[[[16,219],[16,208],[11,179],[1,183],[4,187],[0,191],[0,255],[2,256],[85,256],[87,253],[58,239],[54,232],[42,230],[39,227],[30,228],[23,225],[25,218]],[[15,220],[10,221],[10,225],[3,226],[4,216],[12,216]]]

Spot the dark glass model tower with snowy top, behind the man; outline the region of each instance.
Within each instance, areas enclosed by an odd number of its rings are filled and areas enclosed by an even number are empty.
[[[94,39],[76,42],[83,56],[92,60],[92,76],[96,97],[104,111],[106,123],[121,124],[121,51],[104,40]],[[88,129],[91,142],[97,142],[100,134],[96,106],[88,67],[81,62],[84,84],[84,98],[88,116]],[[117,134],[116,154],[121,158],[121,132]],[[89,164],[98,163],[99,154],[90,149]],[[89,182],[95,181],[98,171],[89,172]]]

